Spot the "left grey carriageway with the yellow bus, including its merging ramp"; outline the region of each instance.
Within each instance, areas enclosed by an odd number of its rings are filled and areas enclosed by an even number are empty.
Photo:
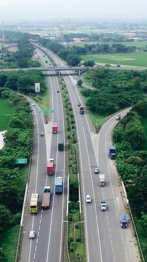
[[[31,161],[28,194],[25,206],[25,216],[23,221],[23,237],[21,243],[21,262],[41,262],[41,261],[63,261],[62,247],[62,220],[64,206],[63,194],[55,194],[55,177],[62,176],[64,181],[65,151],[58,151],[58,139],[64,138],[63,105],[56,76],[48,77],[51,86],[50,108],[54,113],[50,115],[48,125],[44,125],[43,116],[39,113],[39,106],[31,105],[34,124],[34,140]],[[31,100],[30,100],[31,103]],[[52,134],[52,122],[57,122],[59,126],[58,134]],[[45,136],[40,136],[44,132]],[[53,176],[47,175],[47,159],[54,158],[55,171]],[[41,209],[43,197],[43,187],[51,186],[50,207],[47,210]],[[29,204],[32,193],[39,193],[39,211],[36,215],[29,213]],[[66,194],[65,194],[66,195]],[[29,239],[30,230],[36,231],[36,238]]]

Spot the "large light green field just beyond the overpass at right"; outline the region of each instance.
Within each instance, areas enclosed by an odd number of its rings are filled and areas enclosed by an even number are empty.
[[[147,67],[147,52],[83,55],[82,61],[94,60],[100,65],[125,65]]]

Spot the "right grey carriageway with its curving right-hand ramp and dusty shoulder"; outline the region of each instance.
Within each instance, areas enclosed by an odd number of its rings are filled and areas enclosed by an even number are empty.
[[[58,63],[59,58],[50,51],[47,52]],[[64,64],[62,65],[64,66]],[[108,158],[111,132],[118,122],[115,120],[115,116],[111,117],[101,128],[97,136],[97,145],[94,145],[92,137],[95,135],[89,116],[86,112],[85,115],[79,113],[77,102],[81,99],[75,82],[72,76],[68,76],[68,72],[63,72],[63,75],[70,94],[77,123],[78,143],[80,143],[80,183],[82,210],[86,221],[87,261],[137,262],[139,261],[138,249],[135,246],[131,225],[128,225],[127,229],[121,229],[119,224],[119,214],[126,213],[126,202],[122,197],[122,187],[115,169],[115,162]],[[121,114],[126,114],[126,110]],[[99,186],[98,175],[94,174],[97,165],[100,167],[100,173],[105,174],[106,177],[104,187]],[[85,204],[86,194],[90,194],[91,204]],[[106,212],[100,210],[101,200],[107,201]]]

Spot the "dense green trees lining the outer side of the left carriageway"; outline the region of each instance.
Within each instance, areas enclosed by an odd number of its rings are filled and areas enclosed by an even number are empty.
[[[0,97],[9,96],[15,104],[15,113],[9,121],[4,135],[5,146],[0,150],[0,233],[20,223],[21,210],[24,200],[24,187],[21,183],[21,165],[15,164],[17,158],[27,158],[31,154],[33,129],[31,109],[28,101],[13,94],[8,88],[0,88]],[[0,248],[0,261],[6,257]]]

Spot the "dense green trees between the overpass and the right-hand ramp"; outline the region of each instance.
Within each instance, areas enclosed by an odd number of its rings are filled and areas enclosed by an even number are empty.
[[[86,74],[86,80],[95,87],[94,91],[81,91],[92,112],[108,116],[145,100],[142,93],[147,91],[147,71],[96,69]]]

